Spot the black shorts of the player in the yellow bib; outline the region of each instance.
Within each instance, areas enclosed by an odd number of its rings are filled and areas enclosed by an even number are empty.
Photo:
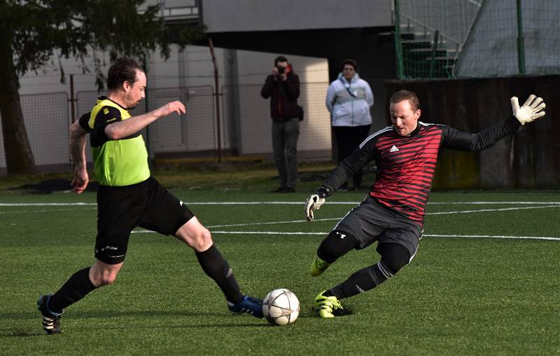
[[[99,186],[95,258],[109,264],[123,262],[130,232],[137,226],[174,235],[193,217],[153,177],[132,186]]]

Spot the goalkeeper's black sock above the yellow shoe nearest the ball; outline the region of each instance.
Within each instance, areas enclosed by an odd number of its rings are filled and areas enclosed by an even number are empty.
[[[379,266],[380,263],[381,266]],[[390,277],[390,275],[386,275],[386,268],[385,271],[382,271],[383,268],[385,267],[381,261],[373,266],[362,268],[328,292],[337,299],[343,299],[373,289]]]

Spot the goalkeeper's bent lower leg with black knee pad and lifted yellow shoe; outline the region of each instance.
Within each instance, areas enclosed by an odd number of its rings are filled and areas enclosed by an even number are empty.
[[[317,249],[317,256],[309,266],[309,273],[316,277],[321,275],[339,257],[358,246],[358,240],[349,233],[339,230],[331,231]]]

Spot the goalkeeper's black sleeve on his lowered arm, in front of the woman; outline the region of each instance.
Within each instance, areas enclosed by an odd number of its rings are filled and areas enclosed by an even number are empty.
[[[336,191],[364,165],[374,160],[377,152],[375,142],[376,139],[369,139],[360,144],[328,174],[323,186],[331,192]]]

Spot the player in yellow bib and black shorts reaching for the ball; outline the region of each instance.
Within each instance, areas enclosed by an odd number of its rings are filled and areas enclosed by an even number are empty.
[[[130,232],[137,226],[174,235],[195,250],[207,275],[221,288],[232,313],[262,317],[262,302],[244,296],[232,269],[207,228],[158,181],[151,177],[148,152],[140,131],[170,114],[186,114],[183,103],[169,102],[146,114],[131,116],[144,99],[146,74],[137,62],[121,57],[109,68],[109,93],[92,111],[70,126],[69,149],[74,163],[73,190],[82,193],[89,182],[85,137],[90,134],[97,191],[97,238],[93,266],[74,273],[55,294],[39,296],[43,329],[60,332],[63,310],[92,290],[115,282],[123,267]]]

